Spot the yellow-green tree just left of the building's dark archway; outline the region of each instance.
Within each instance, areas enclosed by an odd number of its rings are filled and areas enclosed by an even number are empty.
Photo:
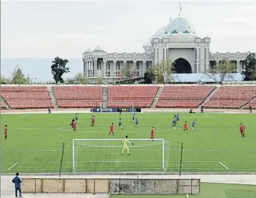
[[[160,61],[153,65],[154,74],[156,75],[156,83],[169,83],[174,80],[174,62],[172,59]]]

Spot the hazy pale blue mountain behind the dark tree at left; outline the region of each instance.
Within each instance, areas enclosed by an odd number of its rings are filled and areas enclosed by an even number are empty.
[[[82,59],[68,59],[67,64],[70,67],[70,72],[64,74],[63,78],[70,78],[75,74],[82,72]],[[1,59],[1,76],[6,78],[11,77],[15,66],[22,69],[25,76],[37,78],[36,81],[47,82],[53,80],[51,74],[51,61],[53,59],[34,59],[34,58],[18,58],[18,59]]]

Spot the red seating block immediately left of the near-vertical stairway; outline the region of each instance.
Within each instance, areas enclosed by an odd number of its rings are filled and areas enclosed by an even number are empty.
[[[62,108],[100,107],[100,86],[53,86],[57,105]]]

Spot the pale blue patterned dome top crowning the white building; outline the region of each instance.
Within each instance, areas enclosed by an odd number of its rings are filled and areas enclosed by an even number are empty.
[[[176,18],[166,26],[165,34],[193,34],[192,28],[185,18]]]

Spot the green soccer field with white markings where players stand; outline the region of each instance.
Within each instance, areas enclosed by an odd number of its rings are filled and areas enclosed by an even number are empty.
[[[136,128],[130,122],[131,113],[123,113],[123,130],[116,127],[119,114],[94,115],[95,126],[90,126],[92,114],[79,114],[77,132],[73,132],[69,124],[75,114],[1,114],[1,128],[9,126],[8,139],[1,136],[1,172],[58,172],[63,143],[62,171],[72,172],[72,139],[122,139],[126,135],[131,139],[150,138],[152,126],[155,138],[172,143],[168,172],[179,172],[181,142],[182,172],[256,172],[256,114],[181,113],[176,128],[171,128],[174,113],[138,113],[140,122]],[[197,126],[191,132],[194,119]],[[183,133],[185,121],[189,123],[187,133]],[[112,122],[115,136],[108,136]],[[245,125],[245,138],[239,132],[241,122]],[[131,146],[131,155],[121,155],[121,144],[120,148],[103,145],[100,151],[87,149],[80,156],[86,169],[80,172],[124,170],[124,166],[130,171],[162,171],[162,150],[158,155],[152,145],[141,151]]]

